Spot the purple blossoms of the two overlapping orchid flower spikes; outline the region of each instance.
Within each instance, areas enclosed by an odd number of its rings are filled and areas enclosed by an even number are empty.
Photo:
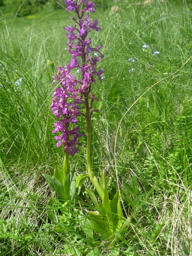
[[[81,146],[81,143],[77,141],[78,137],[84,135],[78,132],[79,126],[75,126],[70,130],[68,128],[70,124],[77,123],[76,117],[80,114],[84,115],[80,107],[82,103],[86,105],[90,99],[89,109],[92,109],[93,101],[97,100],[95,94],[92,94],[92,96],[89,96],[89,94],[91,85],[95,82],[94,76],[98,76],[101,81],[100,76],[104,73],[104,70],[97,71],[96,67],[97,62],[104,56],[100,52],[102,45],[92,48],[90,46],[91,38],[86,38],[91,30],[101,30],[101,28],[97,27],[97,20],[90,20],[89,13],[84,18],[86,11],[95,12],[93,2],[81,0],[78,3],[77,0],[65,0],[65,3],[67,4],[66,11],[74,11],[77,15],[77,19],[71,17],[76,22],[76,25],[65,28],[68,37],[68,52],[72,55],[72,60],[65,68],[56,68],[58,72],[56,76],[53,76],[52,84],[58,81],[59,87],[55,88],[52,96],[54,99],[50,108],[52,108],[56,118],[60,119],[55,122],[55,129],[52,131],[52,133],[60,132],[61,134],[54,137],[54,139],[58,140],[57,147],[63,143],[64,150],[73,155],[78,151],[76,145]],[[81,78],[76,77],[72,69],[80,70]],[[86,116],[86,118],[90,117],[91,115]]]

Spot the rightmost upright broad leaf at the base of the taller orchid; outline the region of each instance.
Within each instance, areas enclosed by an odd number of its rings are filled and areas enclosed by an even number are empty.
[[[111,206],[111,212],[113,216],[113,232],[116,233],[117,231],[119,231],[122,225],[122,217],[123,217],[119,190],[117,190],[115,196],[111,200],[110,206]]]

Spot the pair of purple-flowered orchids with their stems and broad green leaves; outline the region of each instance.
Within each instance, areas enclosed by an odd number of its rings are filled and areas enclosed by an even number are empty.
[[[91,94],[91,89],[92,84],[96,81],[96,76],[101,81],[100,76],[104,73],[104,70],[97,70],[96,67],[97,62],[104,56],[100,52],[102,45],[93,48],[91,46],[91,38],[87,36],[91,30],[99,31],[101,28],[97,26],[97,20],[90,20],[89,13],[87,13],[88,11],[95,12],[93,2],[88,2],[88,0],[65,0],[65,3],[67,4],[66,11],[74,11],[76,13],[76,18],[71,17],[76,23],[75,26],[65,28],[68,37],[68,52],[72,55],[72,60],[64,68],[56,68],[58,72],[53,76],[52,84],[58,82],[59,86],[55,88],[52,96],[52,105],[50,106],[53,114],[58,118],[52,133],[59,132],[59,135],[55,136],[54,139],[57,140],[57,147],[62,146],[64,148],[65,157],[63,168],[56,166],[53,179],[48,175],[44,176],[57,192],[59,200],[63,204],[67,200],[68,202],[74,202],[75,193],[78,195],[79,188],[89,175],[94,189],[96,189],[102,201],[100,206],[92,190],[86,189],[96,207],[96,211],[89,212],[92,228],[97,233],[113,236],[122,226],[123,212],[119,191],[110,202],[105,174],[102,172],[100,180],[97,180],[92,172],[90,161],[90,121],[92,113],[97,111],[92,109],[93,102],[97,98],[95,94]],[[81,105],[85,107],[85,114],[81,110]],[[74,171],[70,175],[68,155],[77,153],[76,146],[81,146],[78,138],[84,136],[79,132],[79,126],[77,126],[79,115],[83,115],[86,118],[88,175],[80,174],[76,178]],[[49,205],[51,204],[49,203]],[[55,223],[57,223],[56,220]]]

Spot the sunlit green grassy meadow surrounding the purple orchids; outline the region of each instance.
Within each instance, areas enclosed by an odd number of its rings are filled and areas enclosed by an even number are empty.
[[[110,246],[79,219],[92,208],[90,180],[72,214],[43,176],[63,163],[50,105],[55,67],[71,61],[63,28],[71,15],[47,5],[17,17],[0,7],[0,256],[192,255],[192,3],[138,2],[95,4],[90,14],[102,28],[90,33],[92,45],[103,44],[105,56],[92,89],[92,169],[104,170],[109,199],[120,189],[127,223]],[[83,116],[79,125],[86,134]],[[87,172],[80,139],[70,156],[77,174]],[[59,231],[47,215],[51,198]]]

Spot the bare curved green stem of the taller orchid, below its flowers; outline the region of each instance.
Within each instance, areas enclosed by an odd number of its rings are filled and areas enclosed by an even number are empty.
[[[91,159],[90,159],[90,146],[91,146],[91,122],[90,122],[90,110],[89,110],[89,100],[88,97],[85,97],[85,108],[86,108],[86,122],[87,122],[87,171],[89,178],[96,189],[97,193],[99,194],[101,200],[104,200],[104,195],[102,193],[102,189],[100,187],[99,181],[95,177],[92,167],[91,167]]]

